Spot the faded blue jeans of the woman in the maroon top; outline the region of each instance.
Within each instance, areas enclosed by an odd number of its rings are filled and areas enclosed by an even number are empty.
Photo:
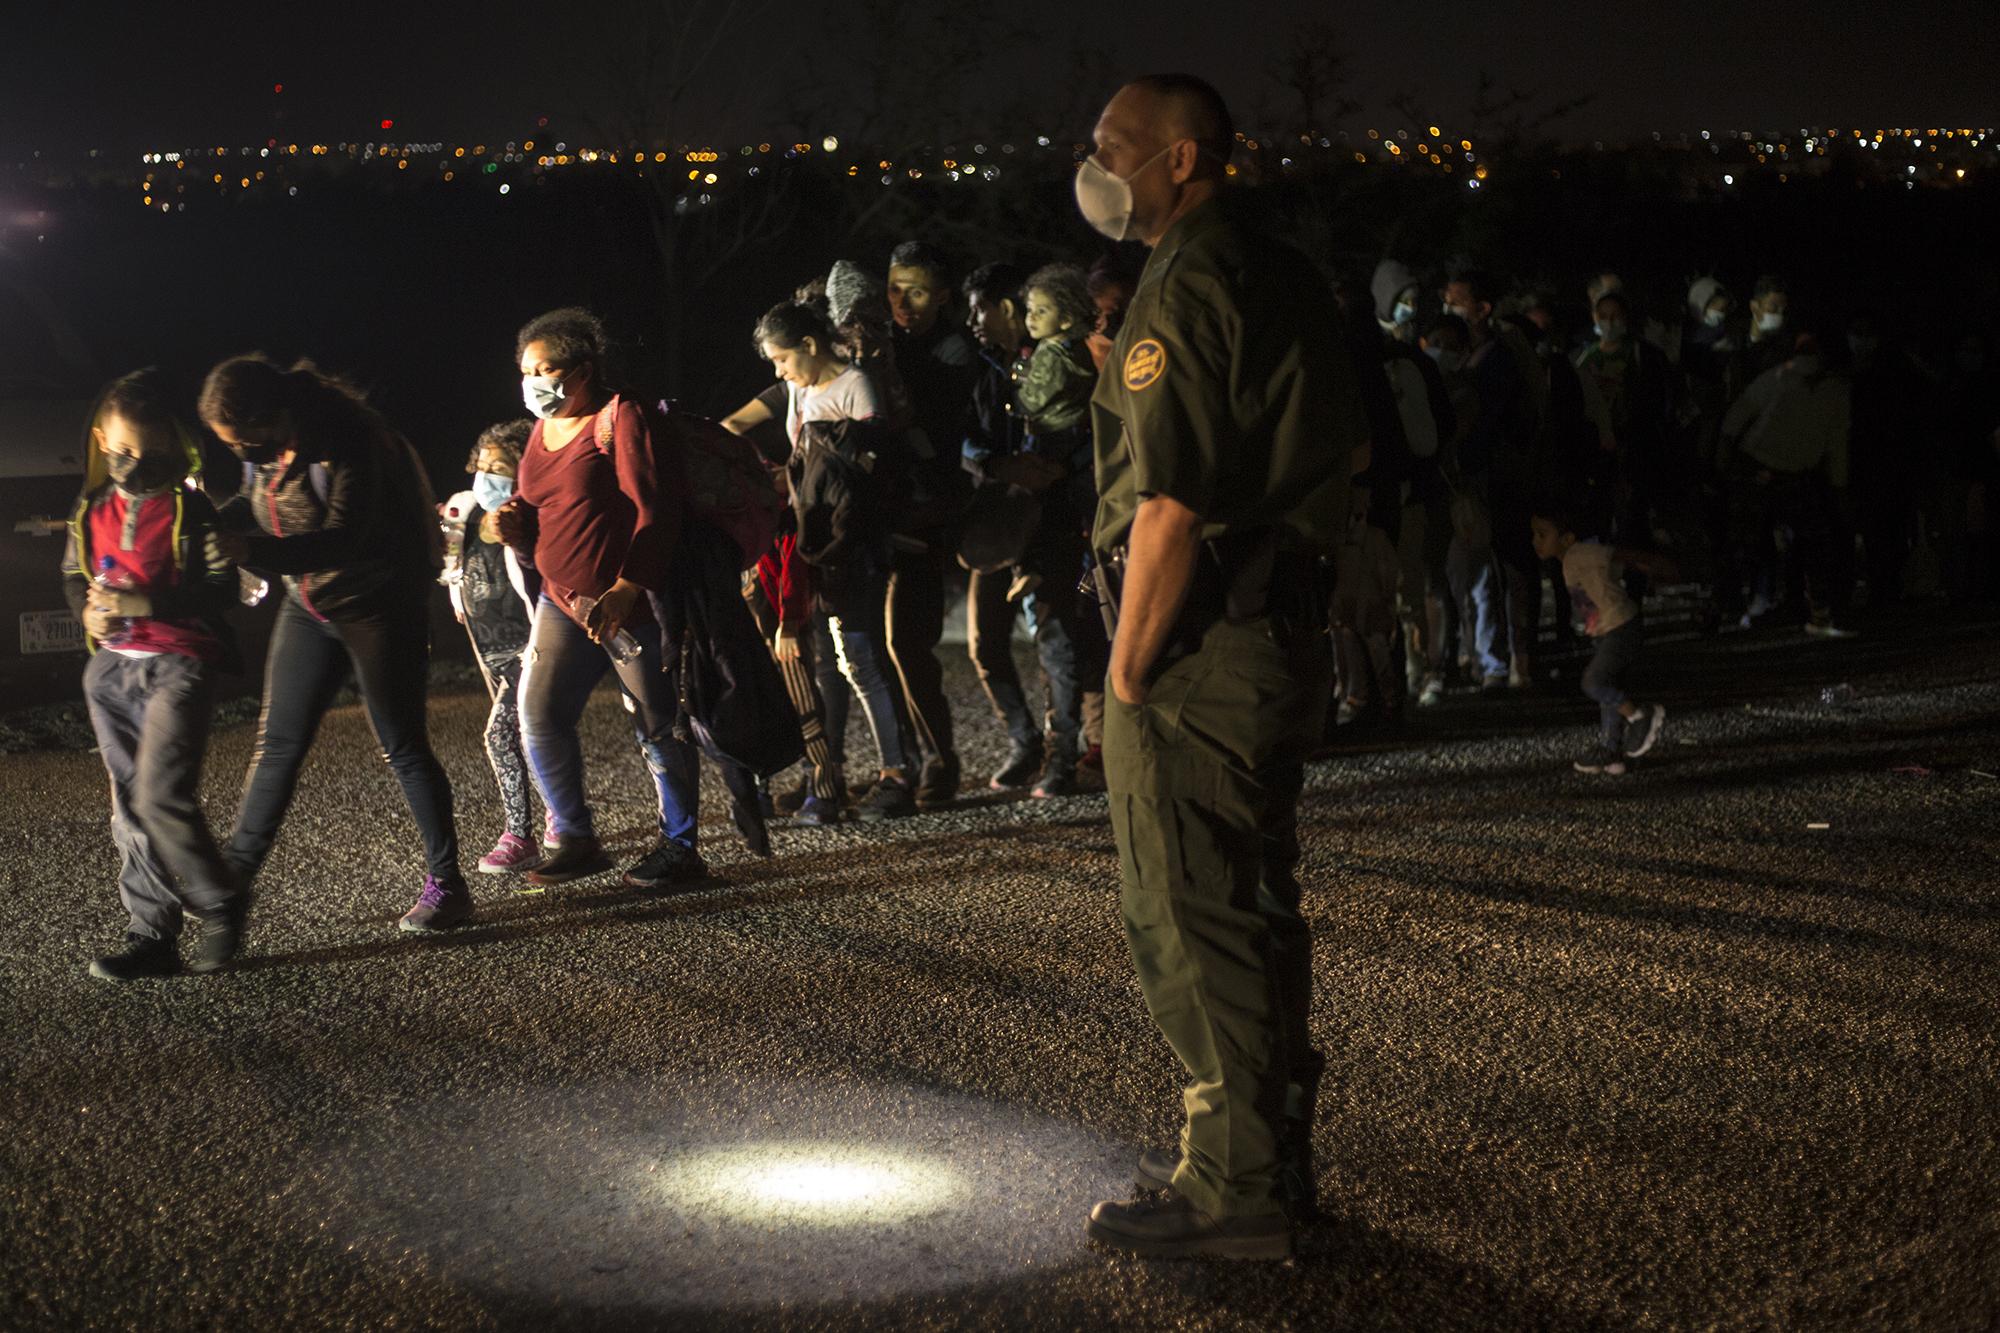
[[[700,799],[700,757],[692,745],[674,739],[674,681],[660,671],[660,626],[632,624],[640,654],[614,664],[610,652],[546,594],[534,606],[534,632],[522,658],[520,739],[528,747],[528,767],[542,793],[542,805],[556,821],[560,837],[596,837],[590,803],[584,799],[584,747],[576,725],[584,717],[590,691],[606,671],[618,673],[618,689],[632,705],[638,749],[660,789],[660,837],[686,849],[696,845]]]

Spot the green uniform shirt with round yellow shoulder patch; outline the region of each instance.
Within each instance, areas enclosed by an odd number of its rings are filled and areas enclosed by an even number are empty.
[[[1204,538],[1276,524],[1288,550],[1340,544],[1348,450],[1368,438],[1340,312],[1304,254],[1222,200],[1146,260],[1090,408],[1100,552],[1158,494],[1200,514]]]

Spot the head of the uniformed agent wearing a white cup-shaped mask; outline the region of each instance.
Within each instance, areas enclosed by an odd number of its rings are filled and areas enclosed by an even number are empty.
[[[1158,244],[1212,198],[1236,150],[1230,108],[1192,74],[1146,74],[1112,94],[1076,172],[1076,204],[1112,240]]]

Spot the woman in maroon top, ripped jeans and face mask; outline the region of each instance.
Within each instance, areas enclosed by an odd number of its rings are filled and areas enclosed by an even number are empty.
[[[634,707],[646,767],[660,791],[660,845],[626,871],[634,889],[702,879],[696,851],[698,759],[674,741],[676,701],[660,669],[660,592],[680,536],[680,468],[662,458],[638,404],[604,384],[604,326],[588,310],[550,310],[514,340],[528,436],[500,536],[542,574],[520,679],[522,741],[556,849],[528,875],[558,885],[604,871],[584,799],[576,725],[606,671]]]

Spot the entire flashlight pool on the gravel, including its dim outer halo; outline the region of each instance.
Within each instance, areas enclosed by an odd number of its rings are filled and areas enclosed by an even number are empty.
[[[1132,1189],[1126,1143],[854,1077],[518,1089],[352,1129],[314,1169],[306,1233],[332,1219],[382,1263],[420,1257],[448,1285],[582,1323],[810,1323],[820,1305],[1004,1283],[1084,1263],[1090,1207]]]

